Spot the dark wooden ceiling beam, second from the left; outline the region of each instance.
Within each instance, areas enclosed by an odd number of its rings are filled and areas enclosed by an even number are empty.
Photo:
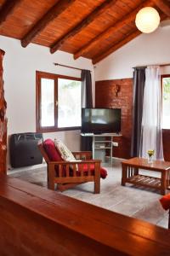
[[[58,1],[48,12],[42,16],[40,20],[26,33],[24,38],[21,39],[21,45],[26,47],[31,43],[32,39],[35,38],[42,30],[48,25],[48,23],[59,15],[61,15],[65,9],[69,8],[72,3],[76,0],[60,0]]]

